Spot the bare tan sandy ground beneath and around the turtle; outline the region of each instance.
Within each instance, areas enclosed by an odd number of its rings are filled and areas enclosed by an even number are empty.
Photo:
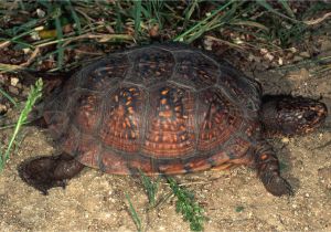
[[[318,98],[331,112],[331,78],[309,76],[305,70],[249,73],[268,93],[293,93]],[[0,175],[0,231],[136,231],[126,192],[146,231],[189,231],[175,213],[174,199],[147,211],[148,199],[139,179],[104,175],[86,168],[65,190],[42,196],[18,176],[17,166],[36,155],[56,154],[46,130],[24,128],[24,139]],[[1,138],[7,136],[1,131]],[[245,167],[175,177],[195,193],[209,220],[205,231],[331,231],[331,119],[318,131],[273,139],[285,164],[282,175],[295,197],[269,194],[256,172]],[[329,145],[328,145],[329,143]],[[158,198],[170,192],[162,182]],[[238,210],[242,209],[242,210]]]

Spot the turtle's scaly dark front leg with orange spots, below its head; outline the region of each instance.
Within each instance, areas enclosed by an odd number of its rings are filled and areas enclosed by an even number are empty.
[[[261,141],[257,146],[255,165],[258,177],[268,192],[277,197],[293,194],[291,186],[286,179],[280,177],[278,158],[266,141]]]

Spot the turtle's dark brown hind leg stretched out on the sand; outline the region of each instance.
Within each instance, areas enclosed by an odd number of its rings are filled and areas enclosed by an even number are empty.
[[[67,154],[54,157],[40,157],[21,164],[18,168],[24,182],[43,194],[54,187],[65,188],[66,181],[72,179],[85,166]]]

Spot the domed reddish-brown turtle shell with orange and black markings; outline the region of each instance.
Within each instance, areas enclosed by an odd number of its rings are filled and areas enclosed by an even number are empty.
[[[109,173],[183,173],[245,164],[259,136],[260,87],[182,44],[109,54],[46,99],[62,149]]]

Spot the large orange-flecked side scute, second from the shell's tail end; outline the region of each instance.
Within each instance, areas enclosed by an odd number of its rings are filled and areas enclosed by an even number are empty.
[[[106,96],[100,140],[128,152],[140,148],[145,94],[137,86],[122,86]]]

